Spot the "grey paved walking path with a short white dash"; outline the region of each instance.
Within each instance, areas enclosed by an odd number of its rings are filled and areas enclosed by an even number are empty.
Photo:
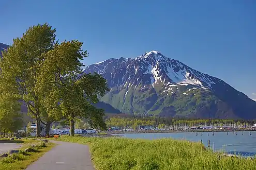
[[[51,141],[57,145],[46,152],[26,170],[94,170],[91,154],[86,145]]]

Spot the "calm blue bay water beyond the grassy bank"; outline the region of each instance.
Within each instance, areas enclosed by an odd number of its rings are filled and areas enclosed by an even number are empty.
[[[189,140],[193,142],[200,142],[203,140],[203,144],[207,147],[207,141],[210,140],[210,147],[214,151],[224,150],[229,154],[239,154],[242,156],[254,156],[256,155],[256,132],[237,132],[237,135],[233,132],[181,132],[181,133],[125,133],[125,138],[132,139],[160,139],[160,138],[173,138],[179,140]]]

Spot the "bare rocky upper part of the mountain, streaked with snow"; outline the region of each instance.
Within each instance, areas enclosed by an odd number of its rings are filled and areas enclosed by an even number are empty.
[[[188,86],[189,84],[202,89],[211,89],[213,84],[222,80],[191,69],[184,63],[163,56],[153,50],[136,58],[108,59],[88,65],[83,73],[97,72],[107,79],[109,86],[138,87],[139,83],[150,83],[163,86]],[[168,90],[167,88],[166,90]]]

